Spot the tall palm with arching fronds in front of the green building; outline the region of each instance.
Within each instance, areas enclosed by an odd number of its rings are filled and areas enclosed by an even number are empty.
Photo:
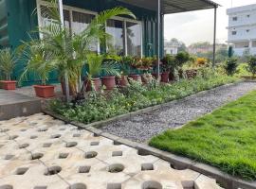
[[[39,28],[43,36],[40,40],[41,48],[52,54],[50,60],[56,64],[60,80],[64,80],[64,75],[67,75],[71,90],[75,93],[80,90],[82,66],[91,53],[90,46],[99,41],[111,45],[112,36],[104,29],[106,21],[118,15],[136,18],[129,9],[107,9],[97,15],[81,34],[76,35],[71,34],[69,28],[62,26],[56,1],[52,1],[45,9],[44,12],[52,18],[52,22],[48,26]]]

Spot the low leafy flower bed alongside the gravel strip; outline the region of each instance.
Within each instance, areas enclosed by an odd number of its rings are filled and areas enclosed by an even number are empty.
[[[204,77],[200,75],[191,80],[182,79],[174,84],[165,85],[158,85],[155,80],[146,85],[132,81],[129,86],[114,90],[111,93],[92,92],[82,103],[77,105],[64,104],[60,100],[51,101],[50,109],[69,120],[88,124],[235,81],[237,81],[236,77],[213,73]]]

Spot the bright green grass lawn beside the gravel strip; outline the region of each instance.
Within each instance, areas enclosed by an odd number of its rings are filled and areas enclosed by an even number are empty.
[[[256,92],[247,94],[182,129],[155,136],[150,146],[256,180]]]

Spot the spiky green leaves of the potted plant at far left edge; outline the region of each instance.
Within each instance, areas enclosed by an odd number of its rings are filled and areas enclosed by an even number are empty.
[[[16,59],[9,48],[0,50],[0,73],[6,80],[10,80],[10,76],[15,68]]]

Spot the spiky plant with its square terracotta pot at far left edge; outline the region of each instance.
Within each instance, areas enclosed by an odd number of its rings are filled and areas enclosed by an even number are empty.
[[[10,76],[15,68],[16,59],[9,48],[0,50],[0,72],[4,80],[0,80],[1,86],[5,90],[15,90],[16,80],[11,80]]]

